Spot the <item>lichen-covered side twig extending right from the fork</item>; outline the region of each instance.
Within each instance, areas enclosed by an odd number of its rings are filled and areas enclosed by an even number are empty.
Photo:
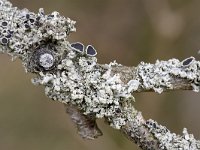
[[[137,67],[113,67],[114,74],[120,74],[123,82],[132,84],[139,81],[134,92],[169,90],[193,90],[199,92],[200,63],[194,57],[183,61],[170,59],[157,60],[155,64],[141,62]]]

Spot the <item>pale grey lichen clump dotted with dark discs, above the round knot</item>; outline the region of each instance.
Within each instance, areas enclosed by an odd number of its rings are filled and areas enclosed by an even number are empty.
[[[28,9],[19,10],[6,0],[0,0],[1,51],[26,59],[30,49],[43,43],[64,41],[75,31],[75,21],[58,12],[45,15],[43,9],[37,14]]]

